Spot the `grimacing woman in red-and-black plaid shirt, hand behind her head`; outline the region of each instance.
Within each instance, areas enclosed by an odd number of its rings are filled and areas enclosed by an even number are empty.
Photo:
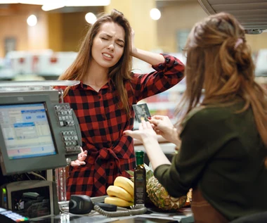
[[[152,65],[154,72],[131,72],[132,56]],[[103,196],[119,175],[129,177],[135,157],[132,105],[159,94],[183,79],[184,65],[169,55],[136,49],[131,26],[122,13],[102,15],[86,34],[76,60],[59,77],[79,80],[67,87],[70,103],[82,132],[82,153],[72,161],[67,178],[67,199],[72,194]]]

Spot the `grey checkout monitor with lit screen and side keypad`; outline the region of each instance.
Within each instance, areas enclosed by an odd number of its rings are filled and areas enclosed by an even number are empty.
[[[0,164],[4,175],[67,165],[82,143],[77,117],[68,103],[48,94],[0,94]]]

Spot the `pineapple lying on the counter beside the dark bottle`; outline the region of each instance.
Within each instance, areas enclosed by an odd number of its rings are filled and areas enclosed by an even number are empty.
[[[164,189],[162,184],[154,177],[151,167],[145,165],[146,170],[146,191],[148,198],[152,203],[161,210],[176,211],[183,208],[187,200],[187,196],[181,196],[180,198],[173,198],[169,196],[169,193]],[[132,171],[127,171],[133,176]]]

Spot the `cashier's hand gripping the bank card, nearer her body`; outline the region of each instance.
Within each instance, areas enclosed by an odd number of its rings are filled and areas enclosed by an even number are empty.
[[[165,115],[154,115],[148,120],[153,129],[158,135],[161,135],[167,141],[170,141],[176,145],[180,145],[180,139],[178,138],[178,131],[171,120]]]

